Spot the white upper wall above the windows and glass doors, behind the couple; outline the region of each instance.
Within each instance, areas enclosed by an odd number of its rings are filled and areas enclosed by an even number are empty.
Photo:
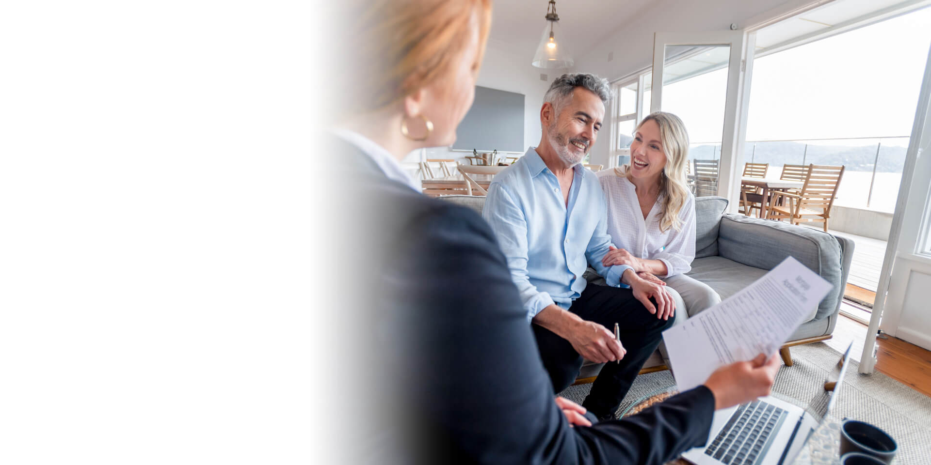
[[[626,20],[619,20],[615,33],[575,58],[573,71],[595,73],[614,81],[651,65],[654,33],[722,31],[730,29],[731,23],[745,29],[770,19],[767,17],[776,17],[815,1],[659,0]],[[612,52],[614,58],[608,61],[608,54]],[[605,137],[592,147],[592,163],[607,165],[609,139]]]

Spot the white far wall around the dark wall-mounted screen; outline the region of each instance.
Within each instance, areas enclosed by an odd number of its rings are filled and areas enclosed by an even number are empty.
[[[540,106],[543,95],[555,77],[566,70],[541,70],[530,64],[533,55],[518,55],[507,50],[506,45],[491,40],[482,60],[478,85],[483,87],[517,92],[524,95],[523,146],[535,146],[540,141]],[[546,81],[540,74],[546,74]],[[471,153],[452,152],[448,147],[426,149],[426,158],[462,158]],[[420,161],[420,151],[409,154],[405,162]]]

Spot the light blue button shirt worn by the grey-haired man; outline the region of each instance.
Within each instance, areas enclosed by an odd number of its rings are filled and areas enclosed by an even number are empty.
[[[505,253],[528,321],[553,303],[568,310],[585,290],[588,264],[609,286],[628,287],[620,278],[629,266],[601,264],[612,246],[607,215],[595,173],[573,167],[566,206],[559,179],[533,147],[492,179],[482,217]]]

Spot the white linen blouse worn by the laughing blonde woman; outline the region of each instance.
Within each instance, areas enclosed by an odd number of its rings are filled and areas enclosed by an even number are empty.
[[[621,168],[622,172],[624,168]],[[681,230],[659,229],[663,195],[656,199],[650,214],[643,219],[637,192],[630,180],[618,176],[614,168],[598,173],[601,190],[608,207],[608,234],[614,246],[625,248],[638,259],[658,259],[666,263],[668,277],[692,270],[695,259],[695,196],[689,193],[679,211]]]

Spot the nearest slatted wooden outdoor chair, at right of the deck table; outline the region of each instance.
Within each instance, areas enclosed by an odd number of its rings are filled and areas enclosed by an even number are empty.
[[[827,233],[830,206],[834,204],[842,176],[843,166],[809,165],[808,175],[799,193],[773,193],[769,218],[789,219],[791,224],[823,222],[824,232]]]

